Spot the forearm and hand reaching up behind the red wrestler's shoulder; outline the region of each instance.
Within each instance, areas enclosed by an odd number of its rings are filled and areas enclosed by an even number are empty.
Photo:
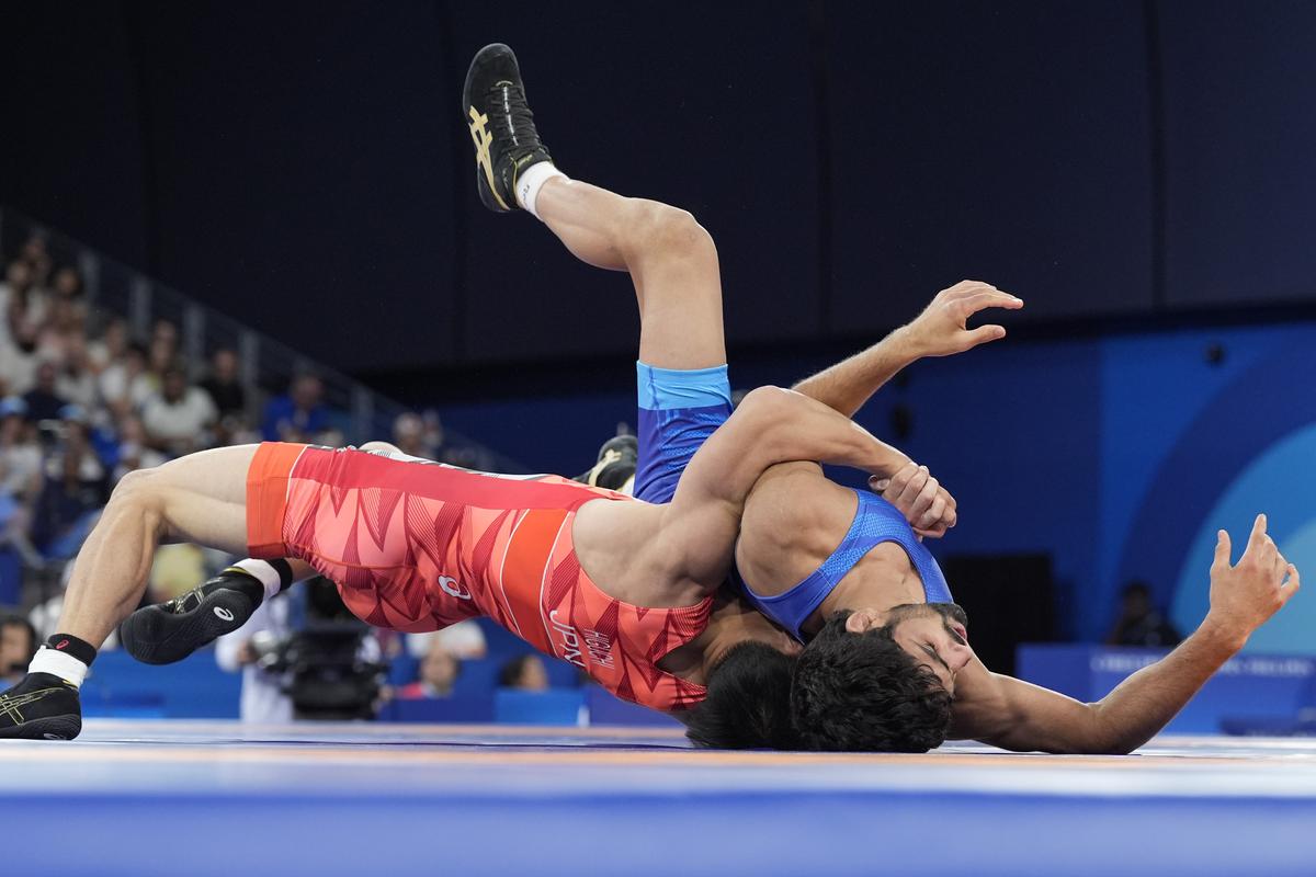
[[[980,280],[961,280],[942,289],[921,314],[863,352],[805,377],[795,391],[846,417],[863,408],[900,369],[925,356],[962,354],[1005,337],[998,325],[969,329],[969,318],[987,308],[1017,310],[1024,301]]]

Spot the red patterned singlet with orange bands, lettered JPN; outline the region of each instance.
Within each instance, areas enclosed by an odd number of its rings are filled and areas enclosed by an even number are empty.
[[[300,557],[376,627],[421,632],[486,615],[655,710],[704,698],[658,661],[708,623],[615,600],[576,559],[571,525],[592,500],[636,502],[558,476],[503,476],[351,448],[266,443],[247,475],[253,557]]]

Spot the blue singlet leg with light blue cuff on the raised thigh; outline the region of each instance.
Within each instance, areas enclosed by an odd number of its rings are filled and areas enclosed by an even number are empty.
[[[726,366],[678,371],[636,363],[640,462],[634,496],[670,502],[690,458],[732,415]]]

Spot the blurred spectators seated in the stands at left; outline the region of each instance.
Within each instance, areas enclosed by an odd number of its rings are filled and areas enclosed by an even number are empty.
[[[68,561],[133,469],[259,440],[343,444],[347,418],[324,394],[309,372],[274,392],[247,383],[233,347],[190,362],[168,320],[134,334],[122,314],[91,306],[75,266],[28,238],[0,277],[0,606],[36,606],[37,634],[50,632]],[[391,438],[415,456],[461,464],[471,454],[445,447],[434,413],[403,414]],[[193,588],[226,561],[167,547],[147,600]]]

